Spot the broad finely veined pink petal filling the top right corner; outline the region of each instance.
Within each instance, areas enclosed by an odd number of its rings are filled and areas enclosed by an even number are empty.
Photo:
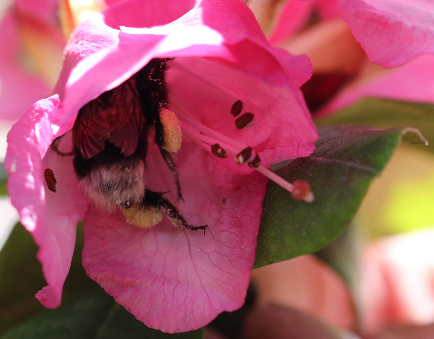
[[[430,0],[338,0],[342,18],[368,54],[387,67],[434,53],[434,3]]]

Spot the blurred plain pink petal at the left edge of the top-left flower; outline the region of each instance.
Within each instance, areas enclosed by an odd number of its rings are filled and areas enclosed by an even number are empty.
[[[0,23],[1,118],[16,120],[35,101],[50,93],[48,86],[25,71],[20,58],[20,32],[16,17],[7,13]]]

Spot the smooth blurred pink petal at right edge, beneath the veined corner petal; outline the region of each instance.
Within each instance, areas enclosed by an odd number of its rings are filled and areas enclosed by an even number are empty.
[[[434,56],[421,55],[398,68],[379,72],[344,88],[318,115],[329,115],[366,96],[434,103]]]

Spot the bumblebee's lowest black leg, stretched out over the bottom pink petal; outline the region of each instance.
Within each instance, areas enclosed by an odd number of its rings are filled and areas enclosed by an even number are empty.
[[[153,207],[160,207],[163,209],[164,213],[166,213],[169,220],[172,222],[174,226],[177,226],[179,228],[186,227],[191,231],[197,231],[199,229],[204,230],[208,227],[208,225],[205,226],[191,226],[187,225],[187,222],[185,221],[184,217],[181,215],[181,213],[178,212],[178,209],[172,203],[166,199],[162,193],[160,192],[153,192],[149,189],[146,190],[145,198],[143,199],[143,204],[153,206]]]

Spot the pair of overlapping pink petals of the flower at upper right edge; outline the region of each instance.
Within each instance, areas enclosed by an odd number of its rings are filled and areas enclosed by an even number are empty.
[[[371,62],[319,114],[364,96],[434,102],[434,3],[339,0],[339,11]],[[401,67],[397,67],[401,66]]]

